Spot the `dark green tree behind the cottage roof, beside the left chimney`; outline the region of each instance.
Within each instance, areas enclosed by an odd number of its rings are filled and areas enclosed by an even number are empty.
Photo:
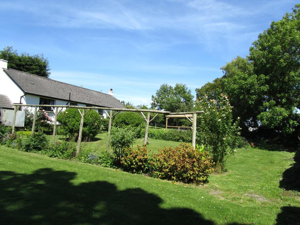
[[[43,54],[29,55],[21,53],[20,55],[12,46],[7,46],[0,51],[0,59],[8,61],[8,67],[38,76],[49,77],[50,68],[48,59]]]

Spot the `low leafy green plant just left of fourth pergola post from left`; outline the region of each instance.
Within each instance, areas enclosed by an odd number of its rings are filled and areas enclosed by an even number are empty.
[[[51,158],[72,159],[76,155],[76,142],[74,140],[58,141],[49,146],[46,155]]]

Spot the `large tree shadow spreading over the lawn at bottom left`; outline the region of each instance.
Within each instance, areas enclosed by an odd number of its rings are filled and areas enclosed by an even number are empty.
[[[0,224],[207,224],[188,208],[160,208],[140,188],[118,190],[96,181],[74,185],[76,173],[50,168],[32,174],[0,172]]]

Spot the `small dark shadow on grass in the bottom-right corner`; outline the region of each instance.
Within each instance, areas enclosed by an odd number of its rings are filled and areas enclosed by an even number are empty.
[[[284,206],[277,215],[276,225],[298,225],[300,223],[300,207]]]

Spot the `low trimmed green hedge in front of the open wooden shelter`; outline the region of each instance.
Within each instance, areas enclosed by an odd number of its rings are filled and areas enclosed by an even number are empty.
[[[145,137],[145,130],[141,132],[141,136]],[[148,131],[148,138],[165,140],[165,141],[177,141],[177,142],[192,142],[193,132],[192,131],[174,131],[168,130],[164,131],[162,129]]]

